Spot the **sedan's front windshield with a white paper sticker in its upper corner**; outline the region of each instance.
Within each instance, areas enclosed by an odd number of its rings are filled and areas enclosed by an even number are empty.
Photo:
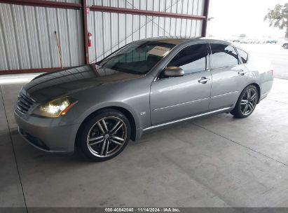
[[[136,41],[109,55],[98,64],[131,74],[146,74],[175,45],[158,41]]]

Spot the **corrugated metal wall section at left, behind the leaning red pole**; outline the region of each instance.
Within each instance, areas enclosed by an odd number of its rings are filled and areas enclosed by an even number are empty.
[[[0,70],[84,64],[81,11],[0,4]]]

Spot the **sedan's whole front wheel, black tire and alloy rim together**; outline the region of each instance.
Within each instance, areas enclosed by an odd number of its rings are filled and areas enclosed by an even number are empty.
[[[120,111],[97,112],[81,128],[78,144],[88,158],[95,161],[118,156],[130,139],[130,123]]]

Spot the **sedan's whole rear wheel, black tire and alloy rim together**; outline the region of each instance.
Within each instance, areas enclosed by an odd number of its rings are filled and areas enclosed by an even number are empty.
[[[240,94],[231,114],[235,118],[247,118],[254,111],[258,103],[258,90],[254,85],[248,85]]]

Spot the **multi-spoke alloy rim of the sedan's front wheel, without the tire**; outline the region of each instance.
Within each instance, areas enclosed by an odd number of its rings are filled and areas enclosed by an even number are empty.
[[[87,146],[94,156],[106,158],[117,153],[127,139],[127,127],[121,118],[101,118],[87,135]]]

